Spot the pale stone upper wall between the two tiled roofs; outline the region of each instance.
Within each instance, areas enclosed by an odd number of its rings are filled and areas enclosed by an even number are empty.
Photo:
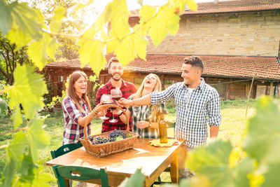
[[[137,19],[131,20],[137,22]],[[280,11],[181,16],[179,32],[150,54],[277,56]]]

